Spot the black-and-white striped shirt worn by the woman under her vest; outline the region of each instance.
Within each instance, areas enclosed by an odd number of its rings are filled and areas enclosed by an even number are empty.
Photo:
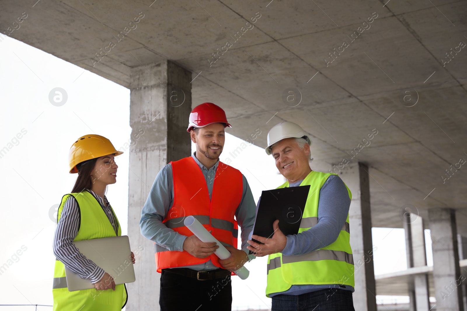
[[[104,195],[104,198],[102,198],[89,189],[86,189],[86,191],[89,191],[89,193],[98,200],[112,224],[115,234],[117,234],[118,222],[106,196]],[[57,260],[64,263],[71,271],[78,273],[78,275],[84,279],[91,280],[91,283],[96,283],[104,276],[105,271],[81,254],[73,244],[73,240],[78,234],[80,221],[81,217],[78,202],[71,196],[64,203],[63,210],[60,214],[60,220],[55,229],[53,245],[54,255],[57,257]]]

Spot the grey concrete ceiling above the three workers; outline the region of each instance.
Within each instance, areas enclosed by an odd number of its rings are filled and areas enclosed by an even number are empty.
[[[441,177],[467,159],[467,1],[269,1],[0,0],[0,29],[26,12],[11,37],[125,87],[132,67],[170,59],[196,77],[193,105],[226,110],[231,134],[259,128],[264,147],[274,124],[293,121],[311,135],[312,168],[366,162],[374,227],[401,227],[411,204],[425,219],[427,208],[456,208],[467,233],[466,175]]]

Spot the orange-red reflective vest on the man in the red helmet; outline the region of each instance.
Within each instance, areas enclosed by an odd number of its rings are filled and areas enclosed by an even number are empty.
[[[224,246],[237,247],[238,225],[234,219],[235,211],[243,194],[243,176],[239,170],[222,162],[216,170],[211,200],[203,172],[192,157],[172,164],[174,202],[163,220],[167,228],[181,235],[193,233],[185,227],[184,220],[194,216]],[[157,272],[162,269],[205,263],[223,268],[219,258],[212,254],[206,258],[192,256],[186,250],[170,251],[154,243]]]

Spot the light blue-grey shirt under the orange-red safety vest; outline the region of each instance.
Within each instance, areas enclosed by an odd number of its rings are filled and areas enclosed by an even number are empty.
[[[219,165],[219,159],[216,164],[210,169],[207,169],[199,160],[196,158],[196,152],[193,152],[191,157],[196,161],[198,166],[201,168],[203,175],[206,180],[206,186],[209,192],[209,199],[211,199],[212,186],[216,176],[217,166]],[[190,178],[187,176],[187,178]],[[235,211],[235,218],[241,228],[241,249],[248,254],[247,241],[248,236],[253,230],[255,223],[255,200],[251,193],[248,181],[243,176],[243,192],[239,206]],[[194,185],[193,187],[198,187]],[[163,220],[167,216],[169,209],[172,207],[174,202],[174,188],[173,188],[173,176],[172,176],[172,165],[169,163],[164,166],[156,176],[154,184],[152,185],[151,192],[149,193],[148,199],[144,204],[141,211],[140,228],[141,234],[149,240],[165,247],[171,251],[183,251],[183,242],[186,239],[185,235],[181,235],[174,230],[167,228],[163,224]],[[248,261],[255,258],[253,255],[248,255]],[[192,270],[206,271],[219,269],[214,266],[211,260],[206,263],[197,265],[184,266],[178,268],[190,268]]]

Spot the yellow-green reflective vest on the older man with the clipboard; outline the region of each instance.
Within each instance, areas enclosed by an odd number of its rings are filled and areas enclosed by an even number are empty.
[[[318,224],[319,190],[330,175],[311,171],[300,186],[310,185],[298,233]],[[285,182],[278,188],[289,187]],[[347,187],[350,199],[352,194]],[[283,256],[281,253],[268,257],[268,283],[266,296],[288,290],[298,284],[342,284],[354,287],[354,259],[350,248],[349,216],[340,234],[332,244],[300,256]]]

